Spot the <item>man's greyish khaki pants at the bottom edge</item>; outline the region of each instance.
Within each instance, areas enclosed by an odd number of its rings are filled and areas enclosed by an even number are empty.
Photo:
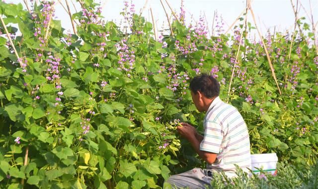
[[[163,185],[163,189],[205,189],[210,186],[213,172],[194,168],[190,171],[172,175]]]

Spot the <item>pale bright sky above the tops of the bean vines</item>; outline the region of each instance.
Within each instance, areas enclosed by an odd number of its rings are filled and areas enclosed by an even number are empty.
[[[30,5],[30,0],[27,1]],[[55,1],[57,2],[56,19],[61,20],[63,28],[73,32],[70,18],[65,9],[60,4],[61,2],[66,7],[65,0]],[[77,10],[80,10],[79,3],[76,0],[68,1],[72,13],[75,12],[75,8],[71,3],[72,1],[74,2]],[[124,0],[95,0],[95,2],[100,3],[103,7],[102,15],[104,16],[105,20],[113,20],[116,23],[119,23],[120,20],[123,19],[122,15],[120,15],[120,12],[124,7],[123,1]],[[167,1],[172,9],[178,14],[180,12],[181,0]],[[24,5],[23,0],[5,0],[5,2],[22,3]],[[166,4],[165,0],[162,0],[162,2],[170,16],[171,11],[168,5]],[[310,7],[312,7],[314,23],[317,24],[318,0],[299,0],[299,2],[302,5],[299,11],[299,17],[306,17],[306,22],[311,25],[309,19],[311,19]],[[157,29],[160,30],[161,28],[168,28],[167,18],[165,16],[160,0],[133,0],[133,3],[135,4],[136,13],[139,13],[145,6],[142,15],[150,22],[152,22],[150,14],[150,7],[152,7]],[[296,0],[293,0],[293,3],[296,5]],[[217,12],[219,16],[222,16],[225,22],[224,29],[228,30],[229,26],[232,25],[232,23],[244,10],[246,6],[246,0],[183,0],[183,4],[186,11],[187,24],[191,20],[198,21],[200,15],[204,16],[205,14],[209,31],[210,33],[212,33],[212,21],[214,12]],[[310,6],[310,4],[312,6]],[[251,7],[255,15],[256,24],[260,29],[262,35],[265,35],[268,30],[273,33],[274,28],[276,32],[285,32],[286,30],[294,29],[295,15],[291,5],[291,0],[251,0]],[[254,23],[250,13],[247,16],[247,21],[250,22],[252,25]],[[316,30],[318,30],[318,24]],[[233,30],[231,32],[233,32]],[[252,34],[258,35],[256,30]]]

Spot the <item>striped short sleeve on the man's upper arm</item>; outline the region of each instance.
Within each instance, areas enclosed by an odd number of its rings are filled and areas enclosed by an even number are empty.
[[[224,136],[222,127],[218,123],[205,121],[204,138],[200,143],[200,150],[218,154]]]

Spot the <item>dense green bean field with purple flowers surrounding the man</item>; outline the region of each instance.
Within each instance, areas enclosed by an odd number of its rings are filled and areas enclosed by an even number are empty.
[[[175,131],[179,122],[203,130],[189,90],[200,73],[242,114],[251,152],[280,162],[276,177],[241,173],[247,181],[214,186],[317,187],[317,32],[302,18],[293,33],[256,40],[244,15],[234,35],[216,16],[211,37],[203,17],[184,24],[182,6],[158,32],[130,2],[119,26],[84,0],[65,31],[55,3],[0,2],[0,188],[157,189],[203,167]]]

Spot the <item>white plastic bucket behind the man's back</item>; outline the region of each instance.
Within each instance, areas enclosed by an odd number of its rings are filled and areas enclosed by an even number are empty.
[[[262,169],[264,172],[276,174],[276,164],[278,161],[276,153],[270,154],[251,154],[252,171],[255,174],[259,174],[258,169]]]

